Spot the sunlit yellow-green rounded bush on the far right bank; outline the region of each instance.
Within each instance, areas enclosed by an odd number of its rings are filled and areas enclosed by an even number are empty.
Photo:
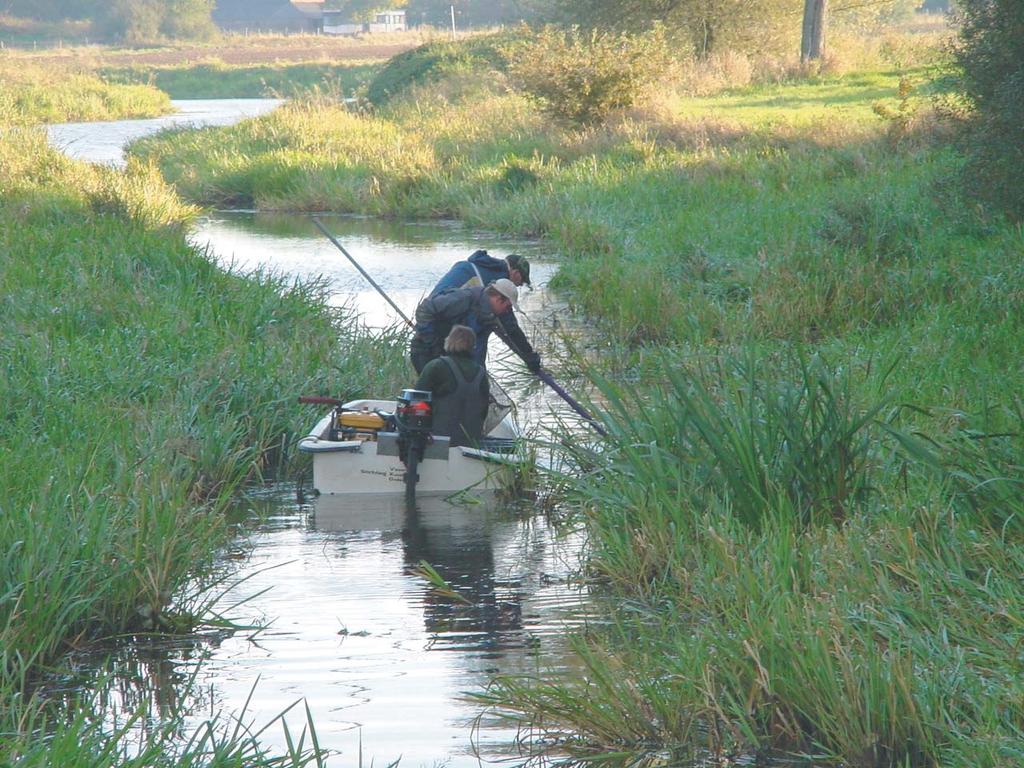
[[[632,106],[662,77],[671,57],[659,30],[645,35],[546,28],[507,48],[509,74],[556,120],[604,121]]]

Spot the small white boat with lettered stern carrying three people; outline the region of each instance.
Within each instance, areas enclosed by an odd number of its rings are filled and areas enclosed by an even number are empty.
[[[350,400],[332,409],[299,440],[299,451],[312,454],[315,493],[403,493],[406,465],[398,456],[399,435],[388,428],[394,410],[394,400]],[[431,437],[417,468],[417,497],[509,484],[520,463],[518,430],[510,413],[503,413],[495,424],[492,421],[484,425],[486,432],[477,446],[453,447],[447,437]]]

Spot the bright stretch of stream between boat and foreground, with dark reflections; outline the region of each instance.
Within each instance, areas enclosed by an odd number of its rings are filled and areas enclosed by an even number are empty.
[[[243,610],[268,625],[211,651],[198,677],[213,692],[205,703],[237,709],[258,678],[255,722],[304,697],[321,743],[349,759],[361,749],[368,763],[457,768],[476,765],[477,751],[507,756],[514,733],[478,723],[464,692],[535,671],[542,652],[558,665],[566,624],[583,621],[570,582],[580,542],[487,498],[423,499],[411,516],[400,498],[265,503],[249,575],[225,601],[259,595]],[[417,575],[423,560],[468,603]],[[288,718],[293,729],[303,720]],[[280,738],[271,729],[261,740]]]

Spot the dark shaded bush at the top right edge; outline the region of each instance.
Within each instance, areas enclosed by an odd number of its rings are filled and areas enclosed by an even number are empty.
[[[969,186],[1024,218],[1024,3],[961,0],[956,58],[971,105]]]

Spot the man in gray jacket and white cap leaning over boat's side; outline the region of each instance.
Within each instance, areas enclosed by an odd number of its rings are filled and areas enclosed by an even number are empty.
[[[539,371],[540,355],[525,335],[512,338],[501,327],[500,318],[512,311],[518,298],[519,290],[512,281],[502,278],[486,288],[456,289],[421,301],[416,308],[416,330],[409,348],[416,373],[443,354],[444,339],[455,326],[467,326],[476,335],[473,359],[477,365],[486,366],[487,340],[492,332],[498,331],[530,371]]]

